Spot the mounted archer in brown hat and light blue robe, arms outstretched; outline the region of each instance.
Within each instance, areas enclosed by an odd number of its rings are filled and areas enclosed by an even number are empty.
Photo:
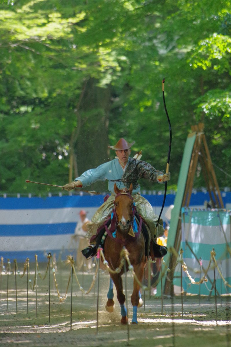
[[[141,215],[148,230],[150,231],[152,241],[154,242],[156,237],[162,236],[164,233],[162,220],[159,221],[156,228],[158,218],[154,214],[151,204],[140,195],[140,185],[138,180],[140,178],[145,178],[150,181],[165,183],[166,181],[170,180],[170,173],[168,172],[167,174],[164,174],[162,171],[156,170],[145,161],[130,158],[131,147],[134,143],[135,141],[128,143],[124,138],[119,139],[114,146],[108,146],[110,149],[115,150],[115,159],[101,164],[96,169],[85,171],[72,183],[68,183],[64,186],[67,191],[71,191],[71,189],[74,189],[77,186],[86,187],[97,181],[108,180],[108,189],[111,192],[111,195],[96,211],[92,217],[91,223],[89,223],[87,227],[88,232],[86,237],[91,238],[90,244],[92,245],[96,244],[97,230],[104,225],[104,222],[107,220],[108,216],[113,210],[115,200],[115,182],[118,189],[128,189],[131,184],[133,185],[132,197],[134,199],[134,204],[137,212]],[[156,243],[155,247],[157,247]],[[85,256],[94,256],[94,251],[91,252],[91,248],[89,248],[89,252],[85,252]],[[159,249],[156,251],[158,253]]]

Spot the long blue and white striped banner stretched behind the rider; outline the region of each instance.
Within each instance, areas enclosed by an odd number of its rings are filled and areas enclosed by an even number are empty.
[[[145,197],[158,214],[163,195]],[[168,195],[165,210],[174,197]],[[0,198],[0,256],[24,262],[26,257],[34,260],[35,254],[40,261],[46,261],[48,252],[68,253],[80,210],[85,209],[91,219],[103,202],[103,195]]]

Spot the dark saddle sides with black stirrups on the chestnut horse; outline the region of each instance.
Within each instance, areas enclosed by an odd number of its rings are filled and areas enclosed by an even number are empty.
[[[135,218],[139,224],[141,217],[137,212],[135,213]],[[96,235],[91,237],[90,243],[94,243],[94,245],[90,245],[81,251],[86,259],[96,256],[99,246],[104,250],[104,242],[106,237],[108,237],[106,227],[108,228],[111,222],[112,219],[108,218],[104,225],[98,228]],[[148,257],[150,255],[152,260],[154,260],[155,258],[162,258],[167,254],[167,247],[158,245],[155,240],[150,240],[149,232],[143,221],[141,231],[145,239],[145,256]]]

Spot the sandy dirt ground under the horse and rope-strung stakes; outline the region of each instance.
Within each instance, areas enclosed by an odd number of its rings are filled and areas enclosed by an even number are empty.
[[[42,271],[41,271],[42,272]],[[87,290],[92,273],[77,273],[81,286]],[[33,277],[31,277],[33,278]],[[60,294],[67,288],[69,272],[58,271],[56,279]],[[7,294],[8,281],[8,294]],[[127,278],[129,318],[132,318],[130,295],[131,276]],[[96,283],[97,284],[97,283]],[[115,294],[115,311],[105,311],[109,275],[100,272],[99,312],[97,323],[97,285],[84,295],[73,279],[71,324],[70,288],[67,298],[60,302],[51,279],[50,322],[49,281],[38,279],[37,305],[35,290],[28,291],[27,279],[17,278],[17,306],[15,275],[2,275],[0,305],[0,346],[214,346],[231,347],[230,296],[217,297],[217,322],[214,297],[184,296],[183,316],[181,296],[161,298],[142,295],[145,305],[138,309],[138,325],[120,324],[120,308]],[[8,299],[7,299],[8,295]],[[28,313],[27,313],[28,305]],[[8,307],[7,307],[8,306]],[[17,307],[17,313],[16,313]],[[37,307],[37,310],[36,310]],[[37,312],[36,312],[37,311]],[[71,329],[72,328],[72,329]]]

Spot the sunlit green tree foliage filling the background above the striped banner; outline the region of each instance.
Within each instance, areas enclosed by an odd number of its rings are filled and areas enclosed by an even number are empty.
[[[228,0],[2,2],[1,191],[49,190],[25,179],[65,184],[112,159],[107,145],[119,137],[135,140],[142,159],[165,170],[163,77],[172,187],[190,125],[199,121],[213,162],[229,171],[229,11]],[[229,185],[223,172],[216,175]]]

